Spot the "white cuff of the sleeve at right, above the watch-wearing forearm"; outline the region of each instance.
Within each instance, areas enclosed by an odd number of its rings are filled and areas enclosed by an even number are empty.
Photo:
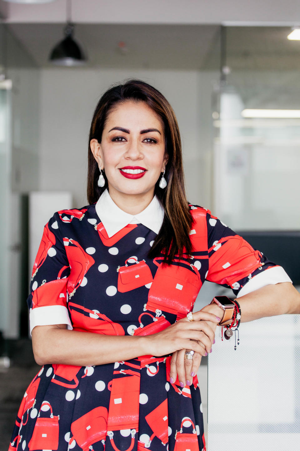
[[[275,285],[279,282],[291,282],[290,277],[284,271],[282,266],[273,266],[253,276],[239,291],[237,298],[258,290],[266,285]]]

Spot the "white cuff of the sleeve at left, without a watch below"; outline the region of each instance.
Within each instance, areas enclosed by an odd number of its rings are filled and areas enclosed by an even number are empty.
[[[36,326],[50,326],[52,324],[67,324],[69,330],[73,329],[68,309],[64,305],[47,305],[30,309],[30,335]]]

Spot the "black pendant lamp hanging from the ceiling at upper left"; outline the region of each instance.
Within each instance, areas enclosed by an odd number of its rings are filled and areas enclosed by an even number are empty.
[[[65,38],[58,42],[50,53],[49,61],[58,66],[82,66],[86,58],[80,46],[73,39],[74,24],[71,21],[71,0],[67,0],[67,25]]]

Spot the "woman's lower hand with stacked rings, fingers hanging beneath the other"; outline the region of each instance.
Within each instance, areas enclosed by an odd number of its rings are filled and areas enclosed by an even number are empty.
[[[223,312],[221,308],[217,306],[217,304],[206,305],[205,307],[201,308],[201,311],[215,313],[216,315],[219,315],[219,317],[221,318],[223,316]],[[217,323],[210,321],[206,321],[206,323],[215,332]],[[198,343],[203,348],[205,348],[205,345],[203,343],[201,343],[200,341],[198,341]],[[172,381],[172,379],[175,382],[178,375],[178,380],[181,388],[185,387],[185,385],[188,386],[192,385],[193,377],[197,374],[202,358],[201,354],[195,352],[193,355],[193,359],[184,359],[185,351],[187,350],[182,349],[180,351],[173,352],[170,360],[170,382]],[[210,352],[211,351],[212,350],[210,350]]]

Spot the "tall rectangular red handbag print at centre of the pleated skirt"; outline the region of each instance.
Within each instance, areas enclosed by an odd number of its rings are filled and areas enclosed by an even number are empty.
[[[123,377],[113,378],[109,400],[107,431],[135,429],[139,427],[140,373],[130,369],[114,371]],[[107,433],[108,434],[108,433]]]

